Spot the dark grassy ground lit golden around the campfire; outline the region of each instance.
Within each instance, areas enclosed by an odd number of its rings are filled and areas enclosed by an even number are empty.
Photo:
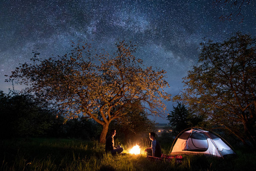
[[[1,170],[251,170],[256,167],[255,152],[246,153],[244,149],[236,151],[236,157],[225,160],[184,156],[177,163],[175,160],[152,162],[143,153],[113,157],[105,154],[104,145],[97,141],[26,139],[0,141],[0,145]]]

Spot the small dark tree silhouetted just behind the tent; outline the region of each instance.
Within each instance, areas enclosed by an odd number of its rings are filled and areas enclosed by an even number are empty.
[[[202,116],[189,112],[184,104],[178,103],[177,107],[173,107],[173,111],[167,116],[167,120],[169,120],[173,134],[178,135],[186,128],[199,126],[204,119]]]

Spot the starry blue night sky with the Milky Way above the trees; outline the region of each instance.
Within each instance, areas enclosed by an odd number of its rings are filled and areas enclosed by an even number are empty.
[[[214,0],[1,0],[0,1],[0,90],[19,63],[30,62],[32,50],[40,58],[64,55],[71,41],[91,43],[95,48],[116,50],[120,40],[138,45],[135,56],[146,66],[167,71],[173,96],[183,88],[182,78],[198,60],[203,38],[223,41],[241,31],[256,36],[256,3],[242,6],[244,16],[220,21],[234,11],[213,5]],[[15,89],[20,87],[15,85]],[[168,112],[172,111],[171,103]],[[156,119],[158,122],[164,120]]]

